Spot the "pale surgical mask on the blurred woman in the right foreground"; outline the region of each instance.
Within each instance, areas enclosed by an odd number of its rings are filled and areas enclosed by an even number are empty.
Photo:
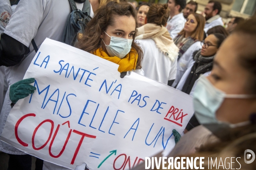
[[[193,97],[195,116],[198,122],[200,124],[209,124],[220,123],[216,119],[215,113],[225,98],[247,99],[256,96],[250,94],[225,94],[225,92],[215,88],[205,76],[201,76],[195,87]]]

